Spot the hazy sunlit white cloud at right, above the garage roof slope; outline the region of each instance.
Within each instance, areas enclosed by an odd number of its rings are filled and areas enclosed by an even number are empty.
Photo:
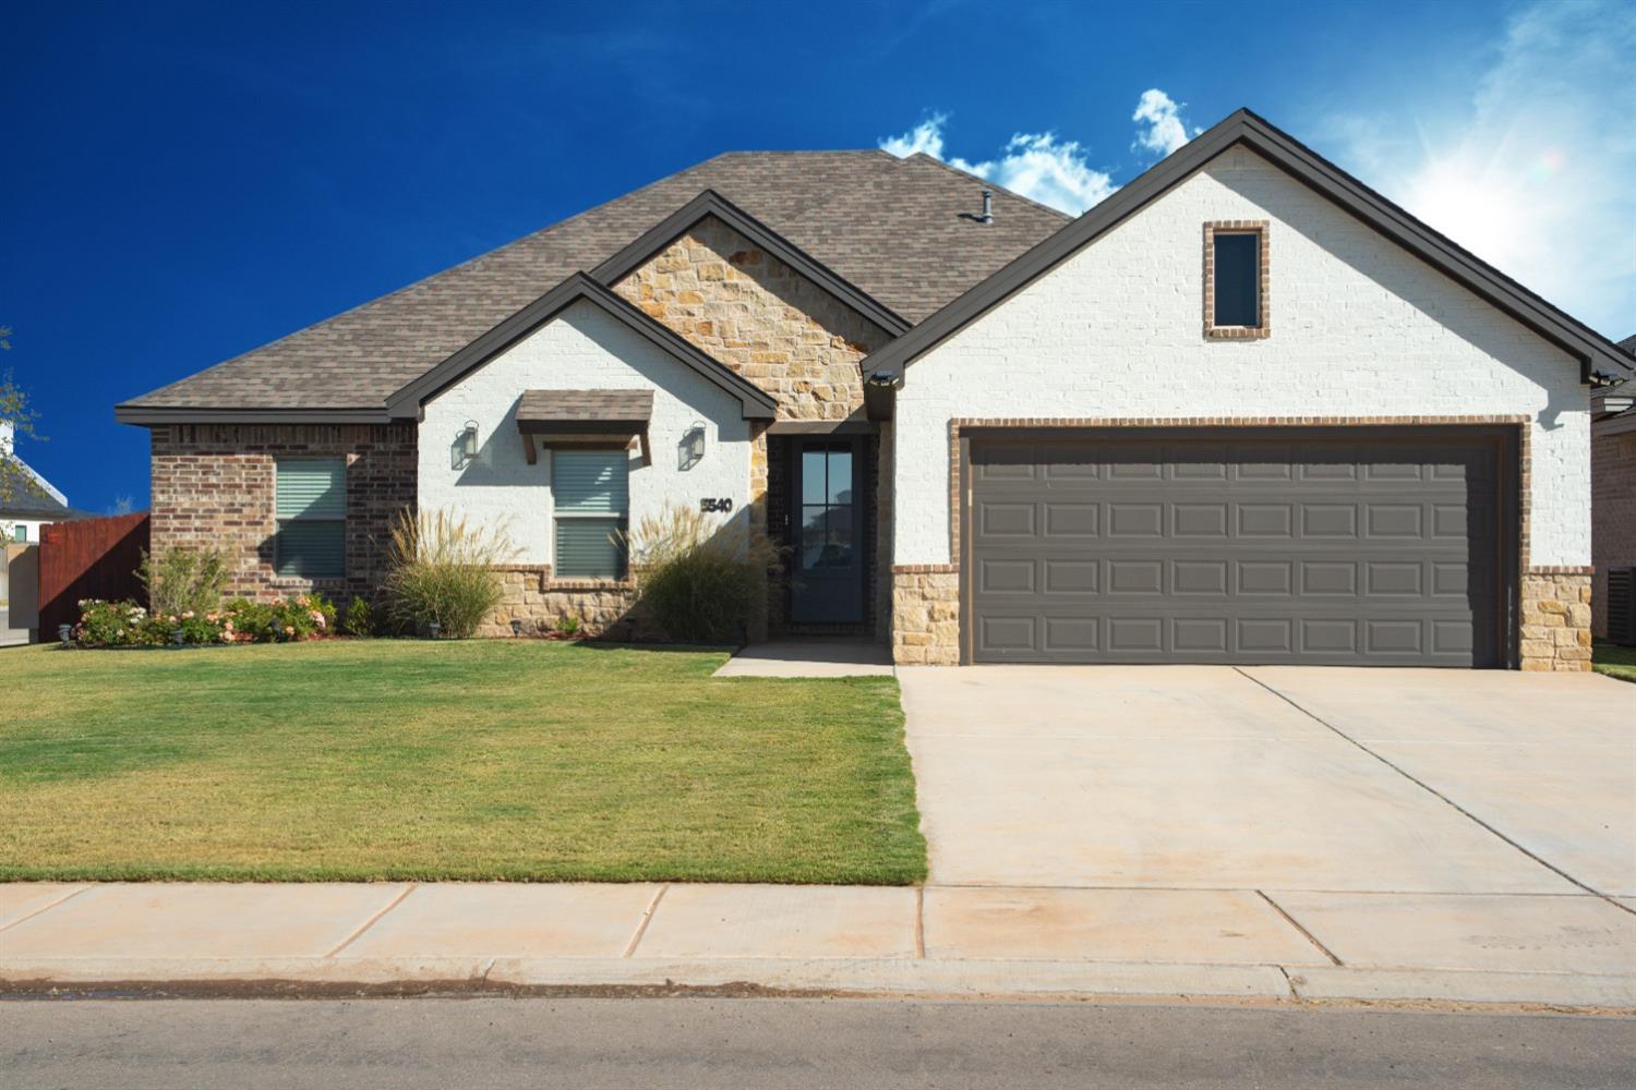
[[[1536,3],[1467,103],[1332,118],[1342,162],[1615,338],[1636,332],[1636,8]]]

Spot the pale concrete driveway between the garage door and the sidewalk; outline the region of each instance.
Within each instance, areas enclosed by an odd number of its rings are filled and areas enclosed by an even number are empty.
[[[1636,897],[1636,686],[900,672],[937,884]]]

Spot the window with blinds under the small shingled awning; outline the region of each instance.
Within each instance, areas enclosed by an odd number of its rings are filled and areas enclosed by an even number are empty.
[[[630,508],[630,454],[551,451],[551,502],[556,508],[556,579],[623,579],[625,549],[614,531]]]

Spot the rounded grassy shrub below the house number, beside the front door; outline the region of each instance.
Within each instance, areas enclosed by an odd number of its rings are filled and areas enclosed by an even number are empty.
[[[636,590],[671,639],[721,644],[766,608],[779,547],[736,523],[717,525],[687,507],[638,523],[625,536]]]

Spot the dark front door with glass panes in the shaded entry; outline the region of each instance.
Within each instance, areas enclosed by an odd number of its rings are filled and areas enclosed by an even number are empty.
[[[790,619],[864,619],[862,458],[856,438],[792,440]]]

